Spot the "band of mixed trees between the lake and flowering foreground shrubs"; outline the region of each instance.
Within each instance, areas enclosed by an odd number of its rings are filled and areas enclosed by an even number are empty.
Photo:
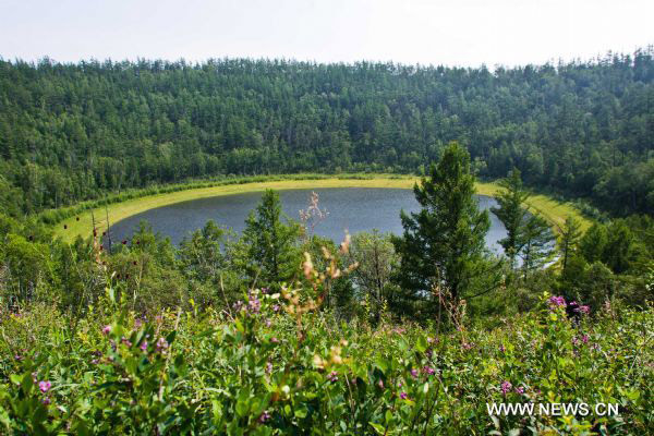
[[[592,312],[607,302],[652,300],[654,219],[634,215],[582,234],[570,218],[557,238],[543,218],[525,213],[530,194],[513,170],[494,210],[508,230],[499,258],[485,246],[491,222],[477,209],[474,182],[470,155],[452,144],[415,186],[422,207],[401,214],[402,235],[359,233],[340,246],[314,234],[329,219],[317,194],[293,220],[267,191],[242,235],[209,221],[179,247],[146,222],[107,250],[102,229],[68,244],[35,218],[0,214],[0,306],[45,302],[83,318],[108,281],[117,298],[148,316],[171,307],[229,312],[258,288],[300,288],[300,298],[319,298],[339,318],[366,323],[382,313],[421,323],[456,319],[459,311],[475,319],[510,316],[535,307],[544,291]]]

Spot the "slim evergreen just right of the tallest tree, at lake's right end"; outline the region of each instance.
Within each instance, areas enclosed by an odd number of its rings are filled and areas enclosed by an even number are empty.
[[[509,257],[511,268],[513,268],[516,256],[521,250],[519,237],[526,217],[526,209],[523,204],[529,198],[529,193],[522,187],[522,179],[518,169],[510,171],[509,177],[501,180],[499,185],[504,187],[496,196],[499,207],[494,207],[491,210],[507,229],[507,237],[501,239],[499,243]]]

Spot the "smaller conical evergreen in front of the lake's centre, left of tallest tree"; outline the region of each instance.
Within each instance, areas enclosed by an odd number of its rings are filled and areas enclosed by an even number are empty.
[[[282,222],[279,194],[267,190],[256,211],[245,220],[243,241],[247,250],[247,272],[256,286],[278,287],[290,281],[301,264],[298,238],[300,226]]]

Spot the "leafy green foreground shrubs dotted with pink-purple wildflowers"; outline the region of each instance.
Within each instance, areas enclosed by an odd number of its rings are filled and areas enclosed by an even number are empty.
[[[652,307],[605,307],[591,322],[545,295],[540,312],[501,328],[437,335],[384,315],[377,328],[338,324],[305,291],[253,291],[231,311],[147,320],[111,298],[77,325],[45,305],[3,314],[0,426],[77,435],[654,431]],[[619,415],[489,416],[493,402],[618,403]]]

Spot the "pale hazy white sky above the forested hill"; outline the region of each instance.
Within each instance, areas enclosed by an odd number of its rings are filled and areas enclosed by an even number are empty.
[[[0,0],[0,56],[514,65],[654,44],[654,0]]]

